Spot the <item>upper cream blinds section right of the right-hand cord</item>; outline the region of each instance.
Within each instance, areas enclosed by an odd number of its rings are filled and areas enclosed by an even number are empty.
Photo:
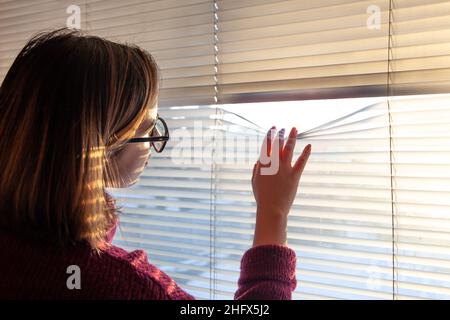
[[[450,1],[392,0],[391,95],[450,90]]]

